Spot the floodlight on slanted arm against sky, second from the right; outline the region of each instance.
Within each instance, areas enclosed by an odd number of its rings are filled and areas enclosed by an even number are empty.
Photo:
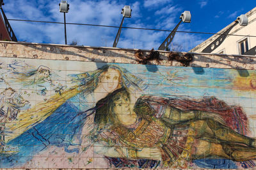
[[[191,22],[191,13],[190,11],[184,11],[180,15],[180,22],[175,26],[175,28],[172,30],[172,32],[169,34],[169,36],[163,41],[163,43],[159,46],[158,50],[166,50],[170,43],[172,42],[177,29],[179,28],[179,25],[181,22],[190,23]]]

